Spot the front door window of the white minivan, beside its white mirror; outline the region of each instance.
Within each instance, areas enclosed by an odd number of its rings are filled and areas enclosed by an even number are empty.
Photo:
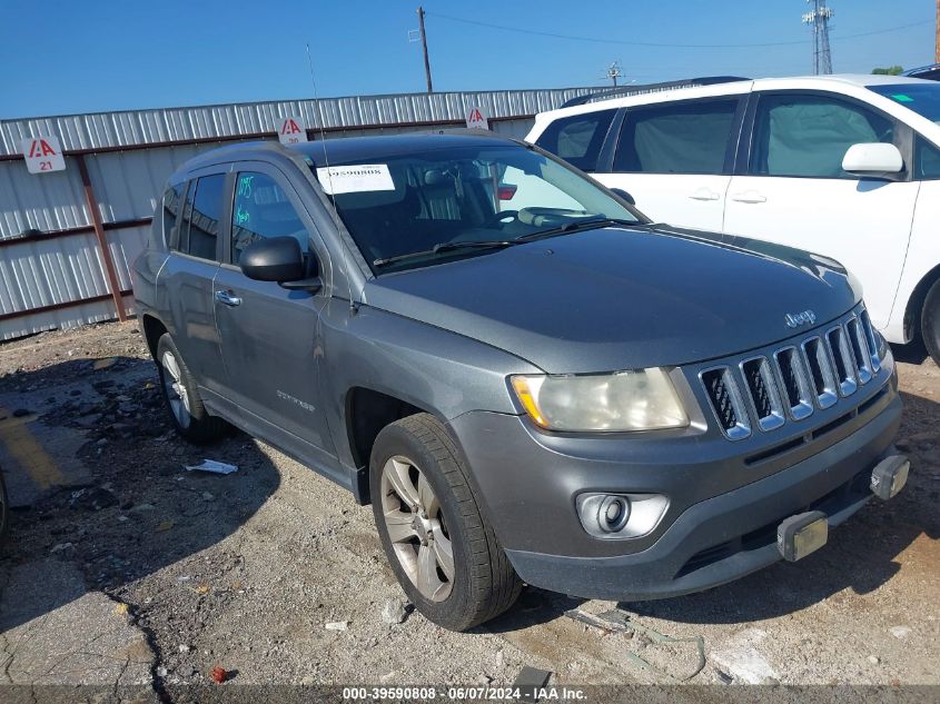
[[[842,170],[849,147],[892,142],[894,123],[862,106],[817,95],[761,96],[751,173],[857,179]]]

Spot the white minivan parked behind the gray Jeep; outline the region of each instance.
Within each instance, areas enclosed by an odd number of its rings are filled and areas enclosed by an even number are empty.
[[[702,82],[543,112],[526,139],[654,220],[838,259],[888,340],[940,364],[940,83]]]

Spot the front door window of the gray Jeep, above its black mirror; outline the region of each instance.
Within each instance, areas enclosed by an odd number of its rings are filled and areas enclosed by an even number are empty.
[[[231,209],[231,262],[253,242],[269,237],[294,237],[309,249],[309,235],[285,190],[266,173],[241,171],[235,181]]]

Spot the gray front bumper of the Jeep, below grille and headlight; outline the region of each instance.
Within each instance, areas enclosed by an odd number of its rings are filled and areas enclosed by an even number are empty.
[[[821,510],[837,526],[861,508],[900,424],[897,376],[841,414],[823,418],[812,442],[792,449],[784,442],[780,453],[752,455],[756,462],[743,457],[746,445],[694,434],[598,443],[540,436],[524,418],[486,413],[466,414],[452,429],[523,581],[641,601],[705,589],[776,562],[776,527],[788,516]],[[670,505],[649,535],[598,541],[574,512],[585,490],[662,493]]]

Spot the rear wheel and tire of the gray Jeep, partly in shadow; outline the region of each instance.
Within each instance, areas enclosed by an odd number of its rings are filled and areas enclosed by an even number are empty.
[[[228,424],[206,410],[196,379],[169,333],[157,340],[157,370],[164,401],[177,433],[197,445],[212,443],[225,435]]]

